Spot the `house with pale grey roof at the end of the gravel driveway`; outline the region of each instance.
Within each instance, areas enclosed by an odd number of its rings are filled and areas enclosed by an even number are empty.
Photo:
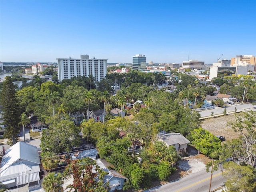
[[[166,146],[174,146],[178,153],[183,153],[187,151],[187,144],[190,141],[180,133],[161,133],[158,134],[159,141],[162,141]]]

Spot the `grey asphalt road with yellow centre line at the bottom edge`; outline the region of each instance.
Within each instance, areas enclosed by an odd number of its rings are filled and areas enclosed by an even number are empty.
[[[206,173],[206,170],[202,170],[167,184],[145,190],[144,192],[208,192],[210,176],[210,172]],[[225,182],[226,179],[222,177],[221,170],[214,172],[212,175],[211,190],[224,186]]]

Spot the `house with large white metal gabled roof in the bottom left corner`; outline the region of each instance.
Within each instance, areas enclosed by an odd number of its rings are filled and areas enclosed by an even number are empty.
[[[38,182],[40,158],[36,146],[22,141],[3,150],[0,182],[8,188]]]

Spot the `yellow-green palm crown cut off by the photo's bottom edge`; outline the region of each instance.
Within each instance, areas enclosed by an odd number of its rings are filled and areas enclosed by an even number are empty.
[[[42,187],[45,192],[60,192],[63,191],[63,183],[61,173],[51,172],[44,177]]]

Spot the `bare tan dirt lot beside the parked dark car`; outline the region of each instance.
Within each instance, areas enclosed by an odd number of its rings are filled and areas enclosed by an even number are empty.
[[[208,130],[210,133],[215,136],[221,135],[224,136],[226,140],[232,140],[234,138],[238,138],[240,136],[239,133],[236,133],[232,130],[232,128],[226,126],[227,122],[233,122],[236,118],[234,115],[225,115],[219,116],[216,118],[209,118],[202,120],[202,128]]]

